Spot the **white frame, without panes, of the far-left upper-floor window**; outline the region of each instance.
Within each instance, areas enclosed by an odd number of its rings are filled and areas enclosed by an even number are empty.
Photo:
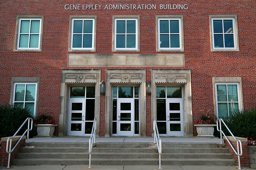
[[[20,33],[20,26],[21,26],[21,20],[29,20],[30,21],[30,25],[29,25],[29,33]],[[40,20],[40,25],[39,25],[39,33],[30,33],[30,28],[31,28],[31,21],[33,20]],[[19,25],[18,25],[18,34],[17,34],[17,49],[18,50],[39,50],[40,49],[40,44],[41,44],[41,26],[42,26],[42,18],[19,18],[18,21]],[[28,48],[20,48],[20,34],[28,34]],[[30,35],[31,34],[39,34],[39,38],[38,38],[38,48],[30,48],[29,47],[29,42],[30,42]]]

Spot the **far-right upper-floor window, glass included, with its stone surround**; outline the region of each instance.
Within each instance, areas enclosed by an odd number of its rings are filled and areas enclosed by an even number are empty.
[[[236,18],[211,18],[212,51],[238,50]]]

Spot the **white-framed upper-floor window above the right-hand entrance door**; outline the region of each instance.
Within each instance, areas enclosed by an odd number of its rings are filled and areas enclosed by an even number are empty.
[[[159,50],[182,49],[181,18],[158,18],[157,26]]]

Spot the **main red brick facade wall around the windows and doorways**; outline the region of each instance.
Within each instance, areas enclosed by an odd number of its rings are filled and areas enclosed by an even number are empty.
[[[244,108],[256,103],[256,15],[254,0],[233,1],[143,1],[156,4],[156,10],[65,10],[65,4],[85,1],[2,0],[0,11],[0,104],[10,100],[12,77],[40,77],[38,114],[51,114],[59,121],[61,69],[191,69],[193,122],[200,110],[213,115],[212,77],[241,77]],[[90,1],[90,4],[140,4],[126,1]],[[188,10],[160,10],[159,4],[188,4]],[[239,52],[211,52],[209,15],[236,14]],[[42,52],[14,52],[17,15],[44,15]],[[96,52],[68,52],[70,15],[96,15]],[[112,16],[140,15],[140,52],[112,52]],[[184,52],[156,52],[156,15],[183,15]],[[184,67],[68,67],[68,54],[184,54]],[[151,136],[151,96],[146,96],[147,136]],[[100,136],[105,133],[105,95],[100,97]],[[54,134],[57,135],[58,127]],[[194,128],[194,135],[196,129]]]

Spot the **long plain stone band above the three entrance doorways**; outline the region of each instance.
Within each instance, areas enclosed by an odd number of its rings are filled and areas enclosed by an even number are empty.
[[[68,66],[184,66],[184,54],[68,54]]]

